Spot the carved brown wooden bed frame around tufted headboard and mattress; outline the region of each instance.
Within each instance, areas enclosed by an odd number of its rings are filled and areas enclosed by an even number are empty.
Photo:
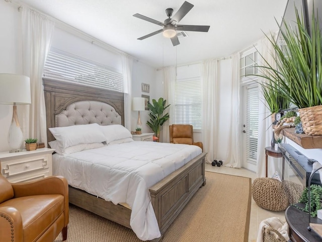
[[[95,100],[110,104],[122,116],[124,125],[124,94],[68,82],[44,79],[48,142],[54,137],[48,128],[56,127],[55,115],[76,101]],[[186,165],[152,186],[151,203],[160,229],[161,241],[165,231],[201,186],[205,186],[205,156],[198,155]],[[126,227],[130,226],[131,210],[97,198],[69,186],[69,202]]]

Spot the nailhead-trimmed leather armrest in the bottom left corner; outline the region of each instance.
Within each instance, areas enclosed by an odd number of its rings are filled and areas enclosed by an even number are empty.
[[[21,214],[13,207],[0,207],[0,239],[2,242],[23,241]]]

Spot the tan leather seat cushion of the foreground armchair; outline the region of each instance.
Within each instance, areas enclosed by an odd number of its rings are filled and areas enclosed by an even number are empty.
[[[64,197],[59,194],[35,195],[10,199],[0,207],[16,208],[22,217],[25,241],[35,241],[64,211]]]

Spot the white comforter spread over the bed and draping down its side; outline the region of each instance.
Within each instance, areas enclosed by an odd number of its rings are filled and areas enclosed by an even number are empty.
[[[53,174],[72,187],[132,209],[138,238],[160,236],[148,188],[201,154],[194,145],[133,141],[68,155],[53,155]]]

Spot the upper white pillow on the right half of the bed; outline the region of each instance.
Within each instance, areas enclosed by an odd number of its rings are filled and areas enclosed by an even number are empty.
[[[106,138],[106,144],[115,140],[132,138],[131,132],[122,125],[107,125],[100,126],[100,128]]]

